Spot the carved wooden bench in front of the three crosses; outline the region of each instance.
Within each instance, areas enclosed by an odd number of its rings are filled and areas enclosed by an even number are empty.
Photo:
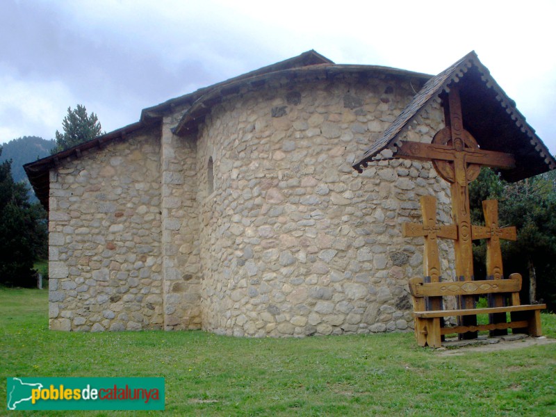
[[[415,336],[420,346],[441,347],[442,336],[445,334],[463,334],[481,330],[513,329],[514,333],[527,333],[530,336],[542,336],[540,311],[546,309],[546,304],[523,304],[519,301],[521,290],[521,275],[512,274],[509,279],[493,279],[482,281],[460,282],[424,282],[423,278],[409,280],[409,291],[413,296]],[[427,310],[428,302],[439,300],[447,295],[502,295],[505,306],[484,309],[455,309],[455,310]],[[429,300],[427,300],[429,298]],[[436,305],[438,303],[436,302]],[[441,307],[442,308],[442,307]],[[493,322],[488,325],[444,327],[444,317],[476,316],[477,314],[510,313],[511,320]],[[491,318],[493,316],[490,316]]]

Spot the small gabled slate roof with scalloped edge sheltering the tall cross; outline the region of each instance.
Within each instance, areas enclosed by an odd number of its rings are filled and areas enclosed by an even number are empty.
[[[427,104],[448,93],[455,83],[459,85],[464,128],[482,149],[516,157],[516,167],[502,171],[503,178],[518,181],[556,168],[555,159],[517,110],[515,102],[494,81],[475,51],[471,51],[425,83],[382,137],[353,164],[354,170],[362,172],[375,158],[395,157],[401,134]]]

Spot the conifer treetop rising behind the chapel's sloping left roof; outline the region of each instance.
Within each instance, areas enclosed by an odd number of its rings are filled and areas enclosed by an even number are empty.
[[[56,131],[56,147],[51,150],[51,154],[56,154],[70,147],[95,139],[103,134],[101,124],[95,113],[87,114],[85,106],[78,104],[72,110],[67,108],[67,115],[62,122],[64,133]]]

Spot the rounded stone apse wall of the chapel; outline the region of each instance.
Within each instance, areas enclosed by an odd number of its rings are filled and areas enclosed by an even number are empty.
[[[423,240],[402,238],[401,224],[420,221],[418,197],[429,194],[449,222],[448,184],[428,163],[351,167],[413,95],[395,76],[347,74],[244,88],[213,108],[197,141],[204,329],[306,336],[413,325],[407,280],[423,273]],[[433,104],[408,136],[430,141],[441,127]]]

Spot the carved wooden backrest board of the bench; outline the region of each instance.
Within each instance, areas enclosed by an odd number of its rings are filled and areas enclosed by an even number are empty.
[[[423,278],[409,279],[409,291],[414,299],[419,297],[444,297],[446,295],[484,295],[509,293],[512,305],[519,305],[521,275],[512,274],[508,279],[491,279],[455,282],[425,282]]]

